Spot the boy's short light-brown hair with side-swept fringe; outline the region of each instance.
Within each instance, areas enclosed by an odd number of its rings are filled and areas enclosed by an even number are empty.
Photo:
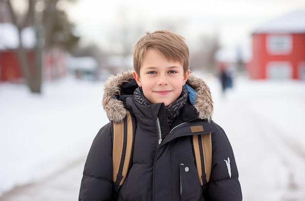
[[[153,48],[167,59],[177,61],[186,73],[190,68],[190,52],[185,38],[168,30],[147,32],[134,46],[133,69],[140,76],[143,58]]]

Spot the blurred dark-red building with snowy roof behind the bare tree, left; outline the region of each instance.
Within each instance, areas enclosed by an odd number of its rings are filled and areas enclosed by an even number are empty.
[[[35,32],[32,28],[22,31],[23,46],[26,50],[30,69],[35,71]],[[23,78],[16,49],[19,45],[17,28],[10,23],[0,23],[0,81],[14,81]],[[52,48],[42,53],[42,78],[54,80],[66,74],[65,52]]]

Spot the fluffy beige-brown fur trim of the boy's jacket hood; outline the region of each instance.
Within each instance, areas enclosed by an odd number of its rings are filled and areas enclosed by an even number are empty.
[[[133,73],[126,71],[111,75],[105,82],[102,105],[108,118],[115,123],[121,122],[126,116],[125,104],[115,97],[121,95],[121,86],[131,80],[134,80]],[[187,84],[196,91],[194,107],[198,112],[198,117],[210,121],[213,113],[210,88],[203,79],[196,77],[193,73],[190,73]]]

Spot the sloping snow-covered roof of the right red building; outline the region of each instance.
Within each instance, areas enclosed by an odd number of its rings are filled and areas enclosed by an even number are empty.
[[[254,30],[254,33],[305,33],[305,9],[296,10],[272,19]]]

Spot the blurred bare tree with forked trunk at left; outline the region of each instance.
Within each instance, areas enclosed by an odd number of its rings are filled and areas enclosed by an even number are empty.
[[[6,2],[12,23],[17,27],[19,46],[16,53],[25,82],[33,93],[41,93],[42,83],[42,53],[55,44],[54,25],[58,17],[57,3],[60,0],[27,0],[28,9],[23,20],[18,20],[19,14],[15,12],[12,0]],[[23,46],[21,32],[25,27],[31,26],[36,34],[34,47],[35,62],[31,64],[28,51]],[[61,30],[62,31],[62,30]],[[71,31],[71,30],[70,30]],[[70,35],[73,38],[73,35]],[[70,38],[68,38],[69,40]],[[78,41],[77,37],[74,39]],[[65,41],[66,42],[66,41]]]

